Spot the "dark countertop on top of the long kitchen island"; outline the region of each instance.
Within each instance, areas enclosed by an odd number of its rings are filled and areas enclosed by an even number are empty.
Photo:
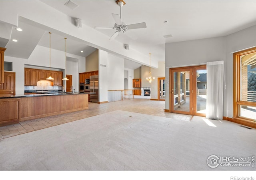
[[[61,92],[61,93],[51,93],[51,94],[17,94],[17,95],[10,95],[10,96],[0,96],[0,99],[4,98],[24,98],[24,97],[38,97],[38,96],[63,96],[63,95],[76,95],[76,94],[95,94],[95,92]]]

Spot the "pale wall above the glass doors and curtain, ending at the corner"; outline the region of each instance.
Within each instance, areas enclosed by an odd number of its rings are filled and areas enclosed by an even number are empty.
[[[200,65],[218,60],[226,61],[225,53],[224,37],[168,43],[165,45],[166,80],[169,80],[169,68]],[[169,86],[170,84],[166,84],[166,109],[170,108]]]

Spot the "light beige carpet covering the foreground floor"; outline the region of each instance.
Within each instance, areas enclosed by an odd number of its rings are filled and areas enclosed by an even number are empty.
[[[0,170],[255,170],[206,164],[255,154],[255,135],[225,120],[116,110],[0,140]]]

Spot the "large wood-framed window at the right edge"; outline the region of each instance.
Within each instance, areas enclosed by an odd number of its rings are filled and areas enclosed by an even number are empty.
[[[256,48],[234,53],[234,118],[256,120]]]

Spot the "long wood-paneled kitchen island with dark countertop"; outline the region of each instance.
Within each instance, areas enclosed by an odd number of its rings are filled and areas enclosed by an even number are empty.
[[[0,126],[88,109],[88,94],[62,92],[0,97]]]

